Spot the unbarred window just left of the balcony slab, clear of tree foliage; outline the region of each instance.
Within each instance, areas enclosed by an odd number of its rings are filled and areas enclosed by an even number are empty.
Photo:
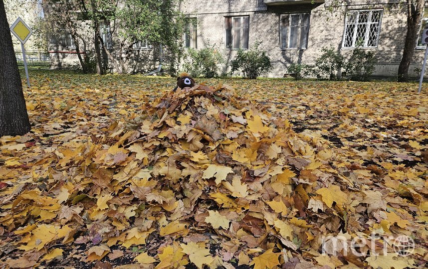
[[[248,48],[249,17],[225,17],[225,47]]]

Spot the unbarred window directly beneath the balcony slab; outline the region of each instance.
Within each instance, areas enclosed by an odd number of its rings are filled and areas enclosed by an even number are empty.
[[[283,14],[280,17],[280,48],[305,49],[308,44],[309,13]]]

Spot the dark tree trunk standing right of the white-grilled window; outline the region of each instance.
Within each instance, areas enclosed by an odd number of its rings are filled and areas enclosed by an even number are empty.
[[[407,1],[407,33],[404,43],[403,57],[398,68],[398,81],[409,80],[409,66],[415,51],[416,39],[418,38],[418,25],[422,19],[424,0]]]

